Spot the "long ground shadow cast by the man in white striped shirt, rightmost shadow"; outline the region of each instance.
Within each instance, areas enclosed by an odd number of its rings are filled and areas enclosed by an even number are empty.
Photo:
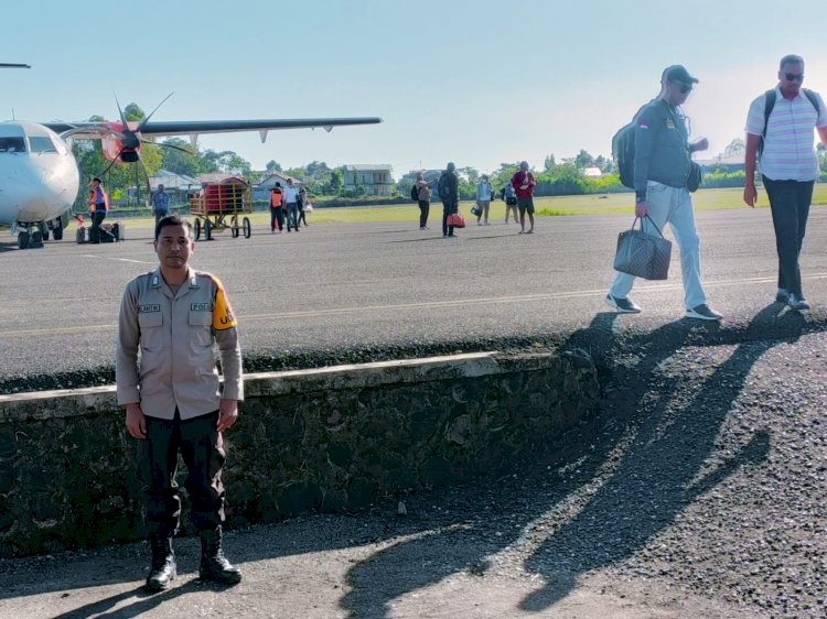
[[[782,322],[786,341],[797,339],[803,318],[781,307],[772,304],[762,310],[747,332],[761,333],[764,326],[777,327]],[[657,339],[658,332],[652,337]],[[630,557],[699,496],[739,468],[767,458],[766,431],[758,430],[739,452],[718,460],[716,438],[752,367],[782,341],[737,344],[717,366],[709,359],[683,359],[668,368],[660,367],[664,360],[657,357],[641,359],[636,379],[630,381],[637,398],[629,405],[638,411],[638,420],[629,448],[583,508],[526,561],[527,572],[541,575],[546,585],[520,602],[523,610],[548,609],[571,593],[581,575]],[[699,384],[687,388],[687,382]]]

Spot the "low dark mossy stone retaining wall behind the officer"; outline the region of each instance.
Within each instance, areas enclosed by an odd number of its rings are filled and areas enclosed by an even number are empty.
[[[247,374],[246,391],[225,434],[230,525],[501,471],[599,406],[579,352]],[[135,446],[114,387],[0,397],[0,556],[142,537]]]

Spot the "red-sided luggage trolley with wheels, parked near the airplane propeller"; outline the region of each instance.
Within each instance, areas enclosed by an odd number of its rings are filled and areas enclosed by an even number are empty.
[[[195,240],[212,240],[214,232],[221,232],[227,228],[233,238],[238,238],[244,232],[244,238],[249,239],[251,234],[250,219],[239,215],[253,213],[253,199],[250,186],[236,176],[225,178],[219,183],[207,183],[195,197],[190,198],[190,214],[195,217],[193,228]]]

